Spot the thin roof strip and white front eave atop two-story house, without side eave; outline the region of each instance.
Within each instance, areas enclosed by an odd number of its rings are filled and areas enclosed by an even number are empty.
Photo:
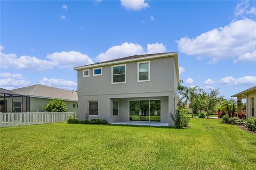
[[[177,52],[133,55],[133,56],[123,57],[123,58],[116,58],[114,60],[109,60],[109,61],[105,61],[105,62],[98,62],[98,63],[94,63],[94,64],[88,64],[88,65],[75,67],[74,70],[80,70],[80,69],[84,69],[84,67],[90,67],[90,66],[94,66],[94,65],[98,65],[98,64],[102,65],[102,64],[106,63],[106,65],[107,65],[108,63],[112,63],[112,62],[131,60],[131,59],[135,59],[135,58],[152,57],[152,56],[158,56],[159,57],[159,56],[169,56],[169,55],[177,55]]]

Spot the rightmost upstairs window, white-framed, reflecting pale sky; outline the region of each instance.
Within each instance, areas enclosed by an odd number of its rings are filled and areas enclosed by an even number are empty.
[[[138,82],[150,81],[150,61],[138,62]]]

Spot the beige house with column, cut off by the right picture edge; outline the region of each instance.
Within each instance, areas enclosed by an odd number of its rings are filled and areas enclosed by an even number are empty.
[[[256,86],[239,92],[231,97],[237,97],[237,113],[241,114],[242,99],[246,99],[246,117],[256,117],[255,114],[255,99],[256,99]]]

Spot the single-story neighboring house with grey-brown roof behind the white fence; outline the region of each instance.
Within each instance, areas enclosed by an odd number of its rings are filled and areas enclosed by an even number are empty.
[[[77,92],[75,91],[53,88],[41,84],[13,89],[11,91],[23,95],[23,97],[7,97],[5,112],[45,112],[43,106],[54,98],[63,100],[69,112],[77,111]],[[3,99],[1,95],[1,102]],[[13,106],[11,105],[12,100]]]

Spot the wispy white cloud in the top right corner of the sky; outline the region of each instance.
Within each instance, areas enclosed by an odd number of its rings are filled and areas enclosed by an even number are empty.
[[[234,15],[236,18],[242,17],[250,17],[256,16],[256,7],[251,6],[249,1],[239,2],[235,8]]]

